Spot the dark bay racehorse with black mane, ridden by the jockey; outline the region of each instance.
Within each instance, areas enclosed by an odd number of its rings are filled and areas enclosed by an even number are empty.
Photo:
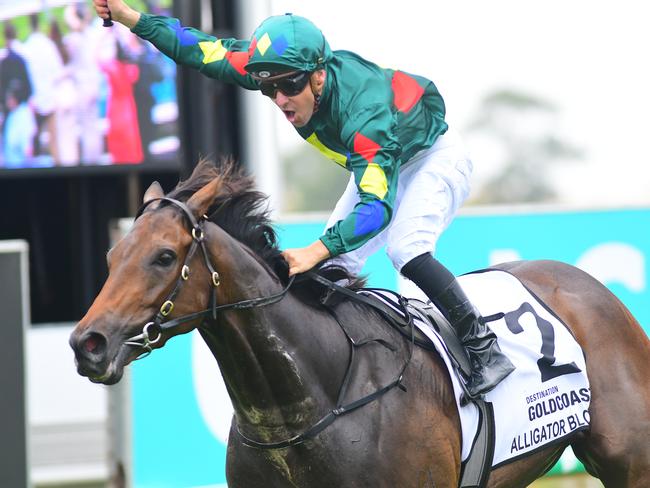
[[[127,364],[196,328],[234,407],[228,486],[457,487],[459,415],[442,359],[363,304],[328,307],[314,282],[292,286],[265,201],[232,163],[201,161],[168,196],[152,184],[71,334],[79,374],[114,384]],[[605,486],[648,486],[650,341],[639,324],[570,265],[497,268],[541,297],[584,349],[591,424],[498,467],[487,486],[527,486],[569,445]]]

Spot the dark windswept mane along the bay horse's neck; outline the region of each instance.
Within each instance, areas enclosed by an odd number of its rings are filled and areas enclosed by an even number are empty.
[[[254,178],[246,174],[233,159],[222,159],[215,164],[210,159],[202,158],[192,174],[186,180],[179,181],[167,196],[185,202],[215,178],[221,180],[221,186],[208,209],[208,220],[248,246],[286,283],[289,266],[279,247],[268,196],[255,189]],[[319,274],[334,281],[343,280],[353,289],[365,284],[365,279],[351,275],[340,266],[321,268]],[[297,288],[299,295],[305,298],[319,297],[325,291],[322,285],[313,280],[301,281]]]

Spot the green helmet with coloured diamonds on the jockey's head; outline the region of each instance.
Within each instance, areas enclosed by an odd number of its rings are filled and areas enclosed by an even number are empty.
[[[287,71],[315,71],[332,57],[323,33],[311,21],[293,14],[269,17],[255,29],[244,67],[257,78]]]

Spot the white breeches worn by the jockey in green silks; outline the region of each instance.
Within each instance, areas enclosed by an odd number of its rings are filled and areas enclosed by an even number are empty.
[[[448,130],[436,143],[402,165],[393,216],[381,233],[354,251],[330,260],[354,274],[384,245],[397,271],[411,259],[435,252],[436,242],[469,195],[472,162],[456,132]],[[359,202],[354,175],[327,222],[344,219]]]

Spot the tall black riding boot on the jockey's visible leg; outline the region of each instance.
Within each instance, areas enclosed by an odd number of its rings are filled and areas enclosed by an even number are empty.
[[[466,389],[471,398],[491,391],[515,367],[501,352],[496,335],[483,322],[453,274],[429,253],[409,261],[402,274],[426,293],[451,323],[471,364]]]

